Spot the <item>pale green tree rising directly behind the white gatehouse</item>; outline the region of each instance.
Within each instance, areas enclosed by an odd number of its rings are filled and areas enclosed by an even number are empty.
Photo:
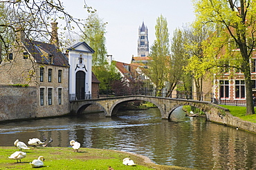
[[[82,39],[89,43],[90,47],[95,51],[93,53],[93,65],[107,64],[106,38],[104,36],[106,33],[106,23],[103,23],[97,13],[92,13],[86,19],[84,32],[86,34],[82,35]]]

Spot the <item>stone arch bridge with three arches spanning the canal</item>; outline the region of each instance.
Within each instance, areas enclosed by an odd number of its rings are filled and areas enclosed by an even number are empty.
[[[98,99],[89,99],[89,100],[73,100],[71,101],[71,114],[80,114],[86,107],[89,105],[98,105],[104,111],[104,116],[114,116],[116,115],[119,107],[122,103],[126,103],[134,100],[143,100],[150,103],[154,103],[156,107],[161,112],[161,117],[163,119],[170,119],[172,111],[177,107],[183,105],[191,105],[201,109],[206,114],[206,118],[214,122],[223,122],[223,117],[226,116],[228,109],[220,107],[214,103],[207,101],[198,101],[198,100],[187,100],[179,98],[163,98],[155,96],[142,96],[142,95],[133,95],[133,96],[118,96],[111,98],[98,98]],[[223,122],[223,124],[226,121]]]

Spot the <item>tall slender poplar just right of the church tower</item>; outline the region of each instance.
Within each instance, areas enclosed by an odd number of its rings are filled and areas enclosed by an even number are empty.
[[[162,14],[156,19],[155,35],[156,40],[152,47],[150,47],[149,58],[152,61],[149,63],[149,76],[158,91],[165,86],[165,81],[167,81],[167,65],[170,61],[167,20]]]

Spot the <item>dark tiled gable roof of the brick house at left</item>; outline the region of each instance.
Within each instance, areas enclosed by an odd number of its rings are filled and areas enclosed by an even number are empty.
[[[39,41],[31,41],[28,39],[24,39],[24,46],[28,50],[28,52],[34,57],[37,63],[47,64],[47,65],[57,65],[68,67],[68,59],[62,54],[60,49],[58,49],[55,45],[49,43],[42,43]],[[52,62],[48,60],[48,56],[43,54],[48,54],[52,56]]]

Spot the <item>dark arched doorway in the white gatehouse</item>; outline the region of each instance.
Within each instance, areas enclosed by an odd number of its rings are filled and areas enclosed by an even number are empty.
[[[78,100],[84,99],[85,94],[85,73],[78,71],[75,74],[75,96]]]

